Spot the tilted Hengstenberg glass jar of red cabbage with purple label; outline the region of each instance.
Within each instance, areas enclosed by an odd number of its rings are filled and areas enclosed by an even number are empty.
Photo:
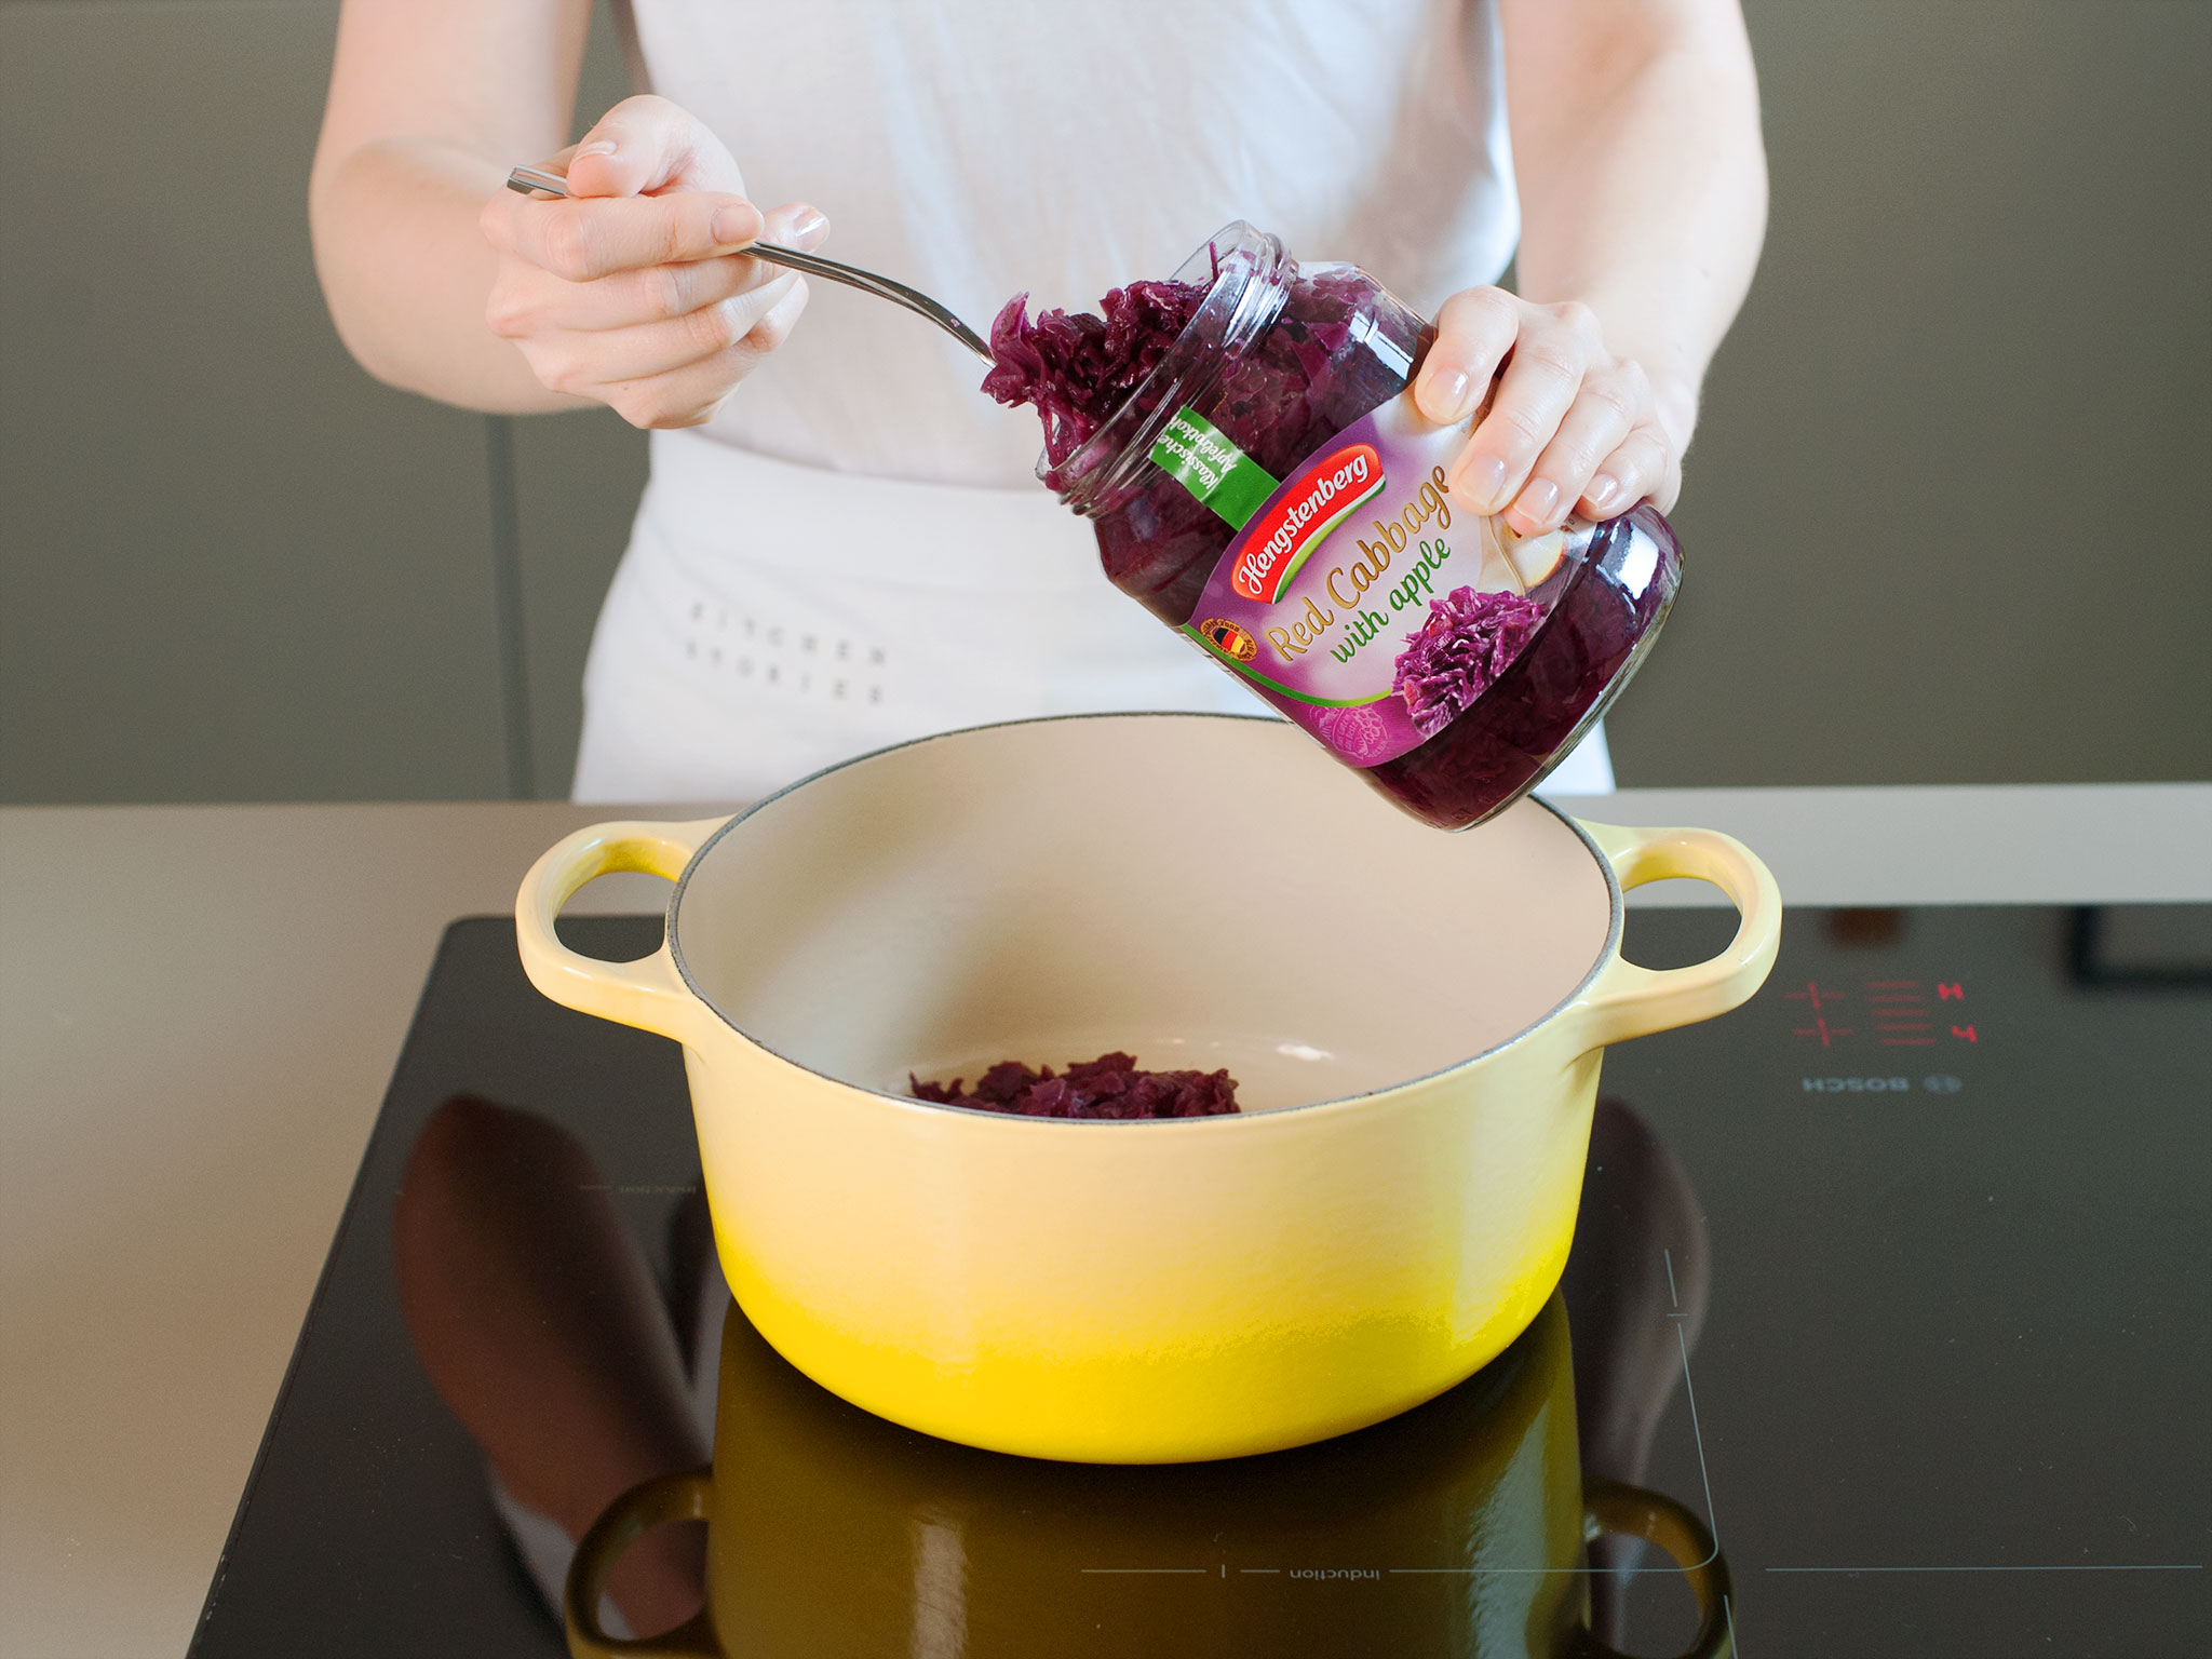
[[[1356,768],[1464,830],[1597,723],[1659,633],[1681,549],[1648,504],[1537,538],[1453,511],[1473,422],[1411,380],[1436,338],[1358,265],[1232,223],[1157,367],[1037,476],[1091,518],[1108,580]]]

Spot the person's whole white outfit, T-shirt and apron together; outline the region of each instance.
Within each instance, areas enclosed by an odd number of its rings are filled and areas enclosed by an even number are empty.
[[[633,0],[630,22],[754,201],[812,201],[823,252],[980,332],[1022,290],[1095,307],[1230,219],[1429,314],[1520,232],[1486,0]],[[577,799],[745,799],[991,719],[1263,708],[1106,584],[1035,482],[1035,418],[973,356],[810,288],[708,427],[653,438]],[[1593,750],[1553,787],[1610,787]]]

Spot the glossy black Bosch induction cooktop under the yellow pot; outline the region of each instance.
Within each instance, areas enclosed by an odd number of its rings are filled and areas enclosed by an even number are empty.
[[[1628,951],[1690,962],[1732,920],[1632,911]],[[799,1551],[750,1564],[796,1608],[770,1659],[1537,1652],[1509,1615],[1540,1568],[1469,1544],[1535,1500],[1453,1471],[1566,1407],[1566,1480],[1717,1540],[1708,1652],[2212,1646],[2212,907],[1792,911],[1747,1006],[1610,1051],[1601,1095],[1562,1292],[1484,1374],[1274,1458],[1033,1464],[783,1367],[706,1248],[675,1044],[542,1000],[507,918],[456,922],[192,1655],[560,1655],[573,1537],[706,1462],[728,1389],[787,1425],[717,1460]],[[1325,1524],[1270,1531],[1285,1506]],[[710,1548],[648,1535],[608,1617],[681,1617]],[[1568,1650],[1692,1644],[1666,1555],[1608,1535],[1571,1571],[1610,1646]]]

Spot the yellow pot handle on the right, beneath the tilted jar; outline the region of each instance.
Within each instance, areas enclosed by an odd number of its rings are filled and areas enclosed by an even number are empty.
[[[1728,894],[1741,914],[1728,949],[1694,967],[1646,969],[1615,951],[1568,1009],[1568,1018],[1582,1024],[1584,1051],[1710,1020],[1765,984],[1783,936],[1783,894],[1774,872],[1750,847],[1719,830],[1582,827],[1604,849],[1621,891],[1694,876]]]

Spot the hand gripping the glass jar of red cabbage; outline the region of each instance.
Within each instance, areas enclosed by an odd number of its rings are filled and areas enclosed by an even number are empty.
[[[1449,422],[1484,396],[1489,409],[1447,473],[1478,513],[1542,535],[1575,511],[1604,520],[1646,498],[1674,504],[1697,394],[1668,389],[1661,414],[1650,376],[1606,349],[1588,305],[1533,305],[1502,288],[1447,299],[1413,398]]]

